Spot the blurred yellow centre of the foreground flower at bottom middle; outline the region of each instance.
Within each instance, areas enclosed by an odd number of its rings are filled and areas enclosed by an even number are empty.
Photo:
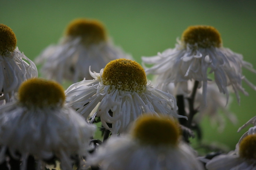
[[[143,115],[135,122],[132,135],[142,144],[177,145],[180,129],[166,116]]]

